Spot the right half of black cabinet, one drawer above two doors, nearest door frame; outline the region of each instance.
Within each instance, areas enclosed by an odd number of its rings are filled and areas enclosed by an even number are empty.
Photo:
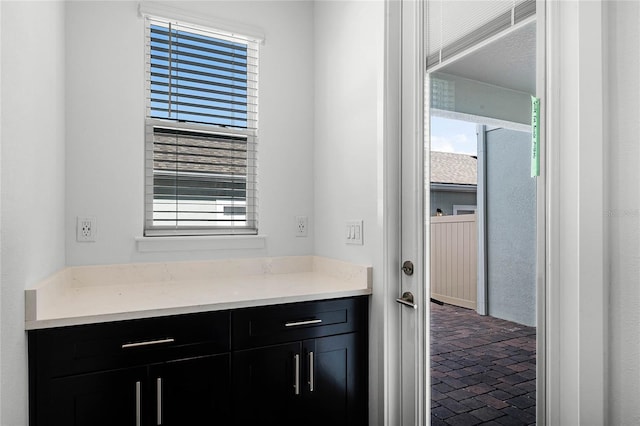
[[[366,425],[365,301],[232,314],[235,424]]]

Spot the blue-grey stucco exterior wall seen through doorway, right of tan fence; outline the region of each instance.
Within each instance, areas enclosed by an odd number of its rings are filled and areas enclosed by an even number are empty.
[[[536,325],[536,181],[528,133],[486,133],[489,315]]]

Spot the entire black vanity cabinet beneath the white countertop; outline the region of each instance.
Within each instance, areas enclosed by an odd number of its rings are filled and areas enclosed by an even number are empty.
[[[366,425],[367,297],[29,332],[31,426]]]

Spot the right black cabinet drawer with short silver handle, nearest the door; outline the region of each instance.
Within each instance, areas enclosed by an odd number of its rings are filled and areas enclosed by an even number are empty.
[[[234,349],[312,339],[359,330],[366,297],[247,308],[232,313]]]

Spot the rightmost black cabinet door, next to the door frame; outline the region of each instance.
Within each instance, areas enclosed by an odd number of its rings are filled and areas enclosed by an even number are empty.
[[[364,343],[349,333],[304,342],[305,424],[367,424]],[[313,413],[313,414],[311,414]]]

